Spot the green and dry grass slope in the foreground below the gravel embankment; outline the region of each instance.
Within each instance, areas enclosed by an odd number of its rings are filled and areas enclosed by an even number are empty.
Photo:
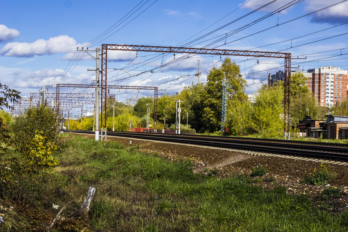
[[[306,195],[253,185],[245,176],[193,174],[186,161],[128,151],[115,142],[72,137],[42,196],[77,208],[90,185],[89,226],[106,231],[347,231],[348,213],[315,209]],[[45,206],[43,206],[45,207]]]

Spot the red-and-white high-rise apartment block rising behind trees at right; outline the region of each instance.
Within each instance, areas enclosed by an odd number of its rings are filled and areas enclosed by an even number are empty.
[[[320,69],[309,69],[307,71],[296,70],[294,73],[302,73],[306,77],[306,85],[321,106],[339,105],[347,98],[347,70],[341,70],[334,66],[321,66]],[[268,74],[269,83],[278,80],[284,81],[284,72]]]

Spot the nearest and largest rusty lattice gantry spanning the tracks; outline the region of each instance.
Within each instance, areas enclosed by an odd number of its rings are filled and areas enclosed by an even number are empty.
[[[291,53],[279,53],[271,51],[247,51],[247,50],[226,50],[226,49],[209,49],[209,48],[184,48],[184,47],[161,47],[161,46],[144,46],[144,45],[120,45],[120,44],[103,44],[102,45],[102,95],[106,98],[107,85],[107,61],[108,50],[120,51],[151,51],[159,53],[188,53],[188,54],[207,54],[207,55],[224,55],[224,56],[252,56],[252,57],[269,57],[285,59],[285,88],[284,88],[284,139],[290,139],[290,75],[291,75]],[[104,106],[103,106],[104,104]],[[102,127],[106,125],[106,103],[102,103]]]

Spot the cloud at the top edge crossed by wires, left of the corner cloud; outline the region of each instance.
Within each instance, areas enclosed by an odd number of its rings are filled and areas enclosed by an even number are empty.
[[[271,2],[271,0],[246,0],[245,2],[239,4],[239,6],[242,6],[242,8],[248,8],[251,10],[256,10],[260,7],[262,7],[263,5],[266,5],[267,3]],[[275,10],[278,10],[279,8],[287,5],[288,3],[290,3],[290,0],[278,0],[275,2],[272,2],[271,4],[269,4],[266,7],[261,8],[259,11],[262,12],[272,12]],[[281,13],[285,14],[287,13],[287,10],[291,9],[293,7],[287,8],[286,10],[281,11]]]

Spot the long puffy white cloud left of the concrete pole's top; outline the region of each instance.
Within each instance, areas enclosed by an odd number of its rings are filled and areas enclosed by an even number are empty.
[[[51,37],[48,40],[38,39],[33,43],[7,43],[0,53],[5,56],[33,57],[34,55],[46,55],[54,53],[69,53],[76,49],[80,44],[68,35]]]

